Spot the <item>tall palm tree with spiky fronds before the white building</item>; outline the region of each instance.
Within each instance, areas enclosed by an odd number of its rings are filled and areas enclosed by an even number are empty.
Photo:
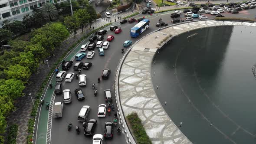
[[[52,21],[58,16],[58,11],[53,3],[45,3],[41,9],[44,17]]]

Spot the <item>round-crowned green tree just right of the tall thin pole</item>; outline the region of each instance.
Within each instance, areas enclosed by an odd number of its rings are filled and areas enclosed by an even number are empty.
[[[78,18],[80,26],[82,28],[82,33],[83,33],[84,32],[83,27],[89,21],[89,14],[87,13],[87,10],[79,9],[79,10],[75,11],[74,16],[76,16]]]

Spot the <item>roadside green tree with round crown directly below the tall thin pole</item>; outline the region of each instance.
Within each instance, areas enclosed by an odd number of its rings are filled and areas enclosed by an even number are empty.
[[[80,26],[77,16],[66,16],[64,18],[64,23],[67,28],[74,30],[74,34],[76,33],[76,29]]]

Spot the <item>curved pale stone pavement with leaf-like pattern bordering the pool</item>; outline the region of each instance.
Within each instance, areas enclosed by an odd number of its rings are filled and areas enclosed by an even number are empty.
[[[138,113],[153,144],[192,144],[171,121],[162,107],[164,104],[158,101],[154,92],[158,88],[153,88],[151,83],[151,62],[157,49],[164,45],[163,43],[159,46],[158,43],[170,34],[173,37],[193,29],[221,25],[256,27],[256,23],[214,20],[169,26],[140,39],[126,56],[121,65],[118,79],[121,107],[125,116],[132,111]],[[190,101],[190,103],[194,105],[193,101]]]

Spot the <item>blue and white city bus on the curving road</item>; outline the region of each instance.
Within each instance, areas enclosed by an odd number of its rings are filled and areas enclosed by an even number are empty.
[[[131,37],[138,37],[149,27],[150,21],[148,19],[141,20],[133,28],[131,28]]]

